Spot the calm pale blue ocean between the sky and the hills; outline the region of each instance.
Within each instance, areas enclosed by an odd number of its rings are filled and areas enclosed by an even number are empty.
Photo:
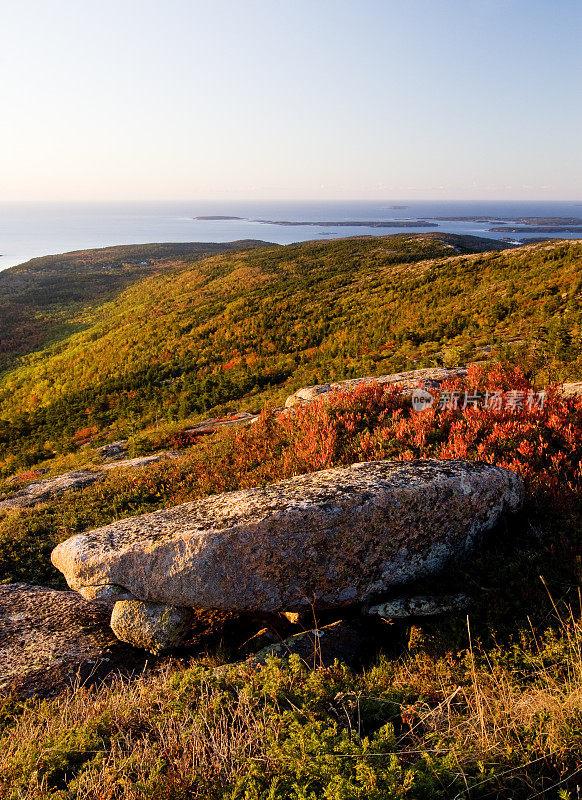
[[[195,217],[239,219],[194,219]],[[30,204],[0,203],[0,270],[36,256],[116,244],[147,242],[230,242],[262,239],[290,244],[308,239],[355,235],[443,231],[492,239],[547,238],[547,233],[491,232],[491,222],[438,220],[476,217],[582,217],[582,202],[259,202],[192,201],[174,203]],[[267,222],[260,222],[266,220]],[[277,225],[289,222],[369,222],[424,220],[437,227]],[[582,233],[582,232],[581,232]],[[581,233],[560,233],[578,238]]]

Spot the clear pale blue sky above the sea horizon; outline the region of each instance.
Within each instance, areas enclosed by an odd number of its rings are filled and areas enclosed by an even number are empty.
[[[0,200],[582,199],[581,0],[11,0]]]

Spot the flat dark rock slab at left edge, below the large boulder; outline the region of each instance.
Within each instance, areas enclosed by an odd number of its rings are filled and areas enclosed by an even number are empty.
[[[117,641],[106,608],[75,592],[0,586],[0,694],[52,697],[144,664],[144,654]]]

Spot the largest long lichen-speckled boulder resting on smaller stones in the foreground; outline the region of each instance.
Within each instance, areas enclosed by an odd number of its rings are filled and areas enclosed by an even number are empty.
[[[471,552],[523,482],[466,461],[378,461],[301,475],[114,522],[59,544],[90,598],[238,611],[335,608]]]

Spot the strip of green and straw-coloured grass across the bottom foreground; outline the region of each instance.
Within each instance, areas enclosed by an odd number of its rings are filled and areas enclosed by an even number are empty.
[[[582,628],[579,613],[555,622],[488,651],[467,633],[439,652],[413,629],[406,655],[359,673],[197,663],[5,708],[2,796],[575,796]]]

